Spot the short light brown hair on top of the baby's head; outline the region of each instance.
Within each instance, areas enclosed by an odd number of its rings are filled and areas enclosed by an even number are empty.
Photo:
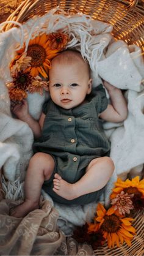
[[[89,77],[90,77],[90,65],[88,64],[87,61],[85,61],[84,58],[82,58],[81,53],[79,53],[79,51],[77,50],[64,50],[61,53],[59,53],[56,57],[54,57],[52,59],[52,62],[61,62],[63,64],[63,62],[67,63],[67,64],[73,64],[74,62],[77,61],[82,61],[83,63],[85,62],[86,66],[87,66],[87,70],[89,73]]]

